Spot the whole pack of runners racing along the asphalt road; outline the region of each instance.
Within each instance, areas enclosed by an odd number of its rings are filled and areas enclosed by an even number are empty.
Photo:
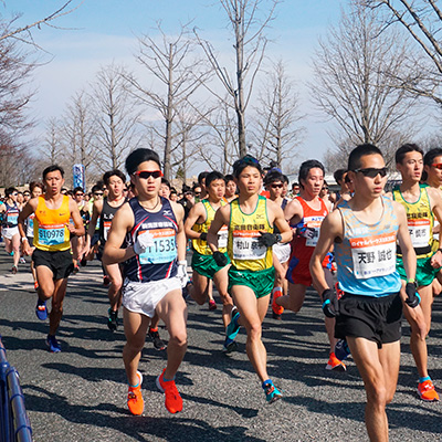
[[[248,357],[272,403],[282,392],[267,373],[262,341],[271,295],[272,315],[281,319],[285,309],[299,312],[313,284],[330,346],[326,368],[345,371],[343,360],[351,354],[367,392],[368,434],[371,440],[387,440],[386,406],[398,380],[402,311],[411,326],[419,396],[439,400],[428,373],[425,336],[433,296],[441,292],[438,278],[442,281],[436,238],[436,220],[442,220],[442,149],[424,156],[418,146],[404,145],[396,164],[402,183],[386,193],[388,170],[381,151],[368,144],[356,147],[337,178],[340,190],[333,202],[325,198],[324,166],[305,161],[296,183],[299,193],[290,200],[284,196],[288,180],[281,170],[264,176],[260,162],[248,155],[235,161],[231,177],[201,173],[198,200],[179,203],[170,198],[158,155],[136,149],[126,159],[134,198],[124,196],[123,172],[105,173],[107,197],[93,203],[87,232],[76,201],[61,193],[63,169],[46,168],[45,192],[32,193],[11,219],[17,217],[22,253],[32,253],[39,287],[35,313],[41,320],[50,318],[50,350],[61,350],[55,333],[67,276],[74,270],[71,236],[86,233],[77,257],[90,256],[98,244],[96,252],[110,282],[110,329],[117,328],[118,308],[124,307],[123,359],[133,414],[144,411],[138,364],[147,334],[159,338],[159,320],[169,341],[157,387],[165,392],[169,412],[182,410],[175,376],[187,348],[185,298],[213,306],[212,284],[222,302],[223,350],[236,349],[235,337],[243,327]],[[30,217],[34,217],[33,252],[27,231]],[[188,240],[193,251],[190,281]]]

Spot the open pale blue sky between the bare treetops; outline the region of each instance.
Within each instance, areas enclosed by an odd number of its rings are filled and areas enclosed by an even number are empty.
[[[0,13],[3,18],[21,13],[17,24],[24,25],[64,3],[65,0],[7,0],[6,8],[0,6]],[[322,159],[334,147],[327,135],[332,126],[313,108],[305,82],[312,76],[311,60],[318,36],[326,35],[330,24],[337,24],[345,4],[345,0],[285,0],[278,4],[267,30],[272,40],[267,55],[284,60],[299,94],[301,112],[306,114],[306,133],[296,148],[296,164],[308,158]],[[56,28],[33,31],[35,42],[45,51],[40,54],[44,63],[33,80],[38,94],[32,113],[39,120],[39,134],[43,134],[48,118],[60,117],[70,98],[87,88],[102,66],[115,62],[137,70],[137,38],[155,36],[158,22],[166,33],[173,34],[180,23],[191,21],[225,56],[232,52],[225,13],[217,0],[75,0],[74,6],[74,11],[52,22]]]

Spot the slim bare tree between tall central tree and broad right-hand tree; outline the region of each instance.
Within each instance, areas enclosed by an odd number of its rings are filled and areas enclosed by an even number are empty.
[[[305,128],[299,114],[299,101],[294,83],[286,75],[283,61],[278,61],[269,81],[260,91],[255,110],[254,138],[256,158],[273,160],[278,167],[293,159],[295,147],[301,143]]]

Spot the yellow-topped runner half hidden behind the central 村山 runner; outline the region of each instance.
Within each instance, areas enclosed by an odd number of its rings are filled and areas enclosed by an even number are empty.
[[[218,265],[207,243],[207,233],[217,210],[227,204],[223,201],[225,192],[223,175],[218,171],[210,172],[206,177],[204,187],[208,191],[207,198],[193,206],[185,223],[186,235],[192,241],[193,249],[191,264],[193,270],[192,287],[189,292],[190,296],[199,305],[203,305],[209,296],[210,282],[213,281],[222,301],[222,322],[227,327],[230,323],[230,313],[233,307],[232,298],[228,294],[229,265]],[[227,225],[221,229],[218,242],[219,250],[225,255],[229,264]],[[213,299],[212,302],[214,303]],[[224,350],[227,351],[228,349],[224,348]]]

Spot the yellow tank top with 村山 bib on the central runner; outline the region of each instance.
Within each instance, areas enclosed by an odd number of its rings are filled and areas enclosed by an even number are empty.
[[[238,270],[261,271],[273,266],[272,248],[257,241],[260,231],[273,233],[269,222],[266,198],[260,196],[253,213],[243,213],[239,199],[230,203],[228,253],[233,267]]]

